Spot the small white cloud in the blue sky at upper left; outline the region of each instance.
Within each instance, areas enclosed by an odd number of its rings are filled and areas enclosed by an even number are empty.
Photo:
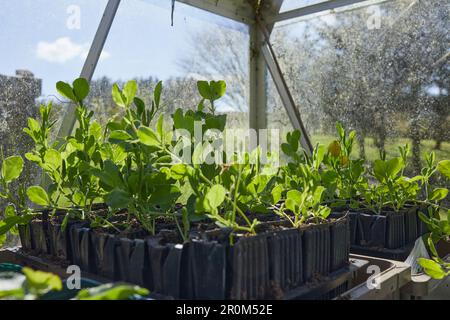
[[[86,59],[89,52],[89,44],[78,44],[69,37],[56,39],[54,42],[40,41],[37,45],[36,55],[39,59],[51,63],[66,63],[75,58]],[[103,51],[100,59],[107,59],[111,54]]]

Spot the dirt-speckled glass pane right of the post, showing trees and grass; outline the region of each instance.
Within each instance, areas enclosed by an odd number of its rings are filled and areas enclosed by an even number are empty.
[[[403,0],[277,24],[271,40],[313,142],[340,121],[369,160],[404,143],[415,168],[425,151],[448,158],[448,14],[442,1]]]

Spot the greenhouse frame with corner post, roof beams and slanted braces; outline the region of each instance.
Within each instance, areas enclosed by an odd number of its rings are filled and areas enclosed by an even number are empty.
[[[250,57],[250,103],[249,127],[253,129],[267,128],[265,118],[267,97],[265,92],[266,68],[270,72],[281,97],[291,123],[302,134],[301,142],[305,150],[312,149],[305,126],[294,99],[284,79],[275,52],[270,44],[270,34],[276,22],[320,14],[330,10],[354,6],[366,6],[386,0],[173,0],[172,13],[176,10],[176,2],[232,19],[249,26],[251,52]],[[120,0],[108,0],[97,33],[87,55],[81,77],[92,79],[95,67],[100,59],[103,46],[113,24]],[[69,134],[75,123],[73,110],[69,109],[60,129],[60,135]]]

